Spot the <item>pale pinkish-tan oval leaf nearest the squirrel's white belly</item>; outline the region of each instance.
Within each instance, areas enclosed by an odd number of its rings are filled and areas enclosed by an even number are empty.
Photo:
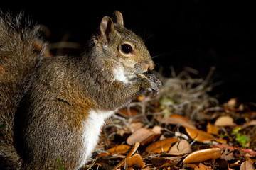
[[[151,135],[154,135],[154,132],[152,132],[151,130],[146,128],[139,128],[135,130],[134,133],[127,138],[127,144],[134,145],[135,142],[143,142]]]

